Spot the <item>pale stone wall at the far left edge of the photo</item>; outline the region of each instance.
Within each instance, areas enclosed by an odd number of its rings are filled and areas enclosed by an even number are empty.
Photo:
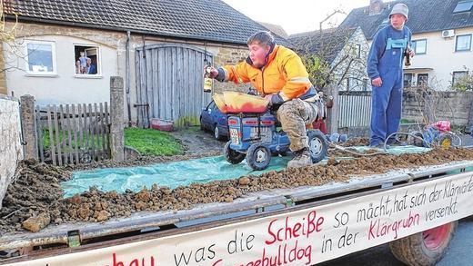
[[[0,208],[6,188],[15,176],[16,164],[23,159],[18,101],[0,96]]]

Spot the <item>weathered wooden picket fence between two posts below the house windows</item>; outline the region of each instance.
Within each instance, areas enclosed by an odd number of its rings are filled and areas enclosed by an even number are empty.
[[[110,113],[107,103],[36,106],[41,162],[65,165],[110,158]]]

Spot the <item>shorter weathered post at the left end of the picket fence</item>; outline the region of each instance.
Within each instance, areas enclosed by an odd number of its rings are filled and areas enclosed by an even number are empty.
[[[23,138],[25,141],[25,159],[38,159],[38,141],[35,119],[35,97],[23,95],[20,97],[21,123],[23,126]]]

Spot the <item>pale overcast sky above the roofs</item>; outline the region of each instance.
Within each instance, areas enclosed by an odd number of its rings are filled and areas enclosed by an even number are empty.
[[[287,34],[318,29],[319,22],[334,10],[347,14],[353,9],[369,5],[369,0],[223,0],[253,20],[281,25]],[[388,2],[388,1],[384,1]],[[331,21],[340,24],[347,15],[337,15]],[[323,26],[327,28],[327,24]]]

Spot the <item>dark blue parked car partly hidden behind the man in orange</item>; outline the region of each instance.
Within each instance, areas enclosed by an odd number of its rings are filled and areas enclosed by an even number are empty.
[[[228,139],[226,114],[218,110],[213,100],[200,113],[200,129],[214,133],[217,140]]]

